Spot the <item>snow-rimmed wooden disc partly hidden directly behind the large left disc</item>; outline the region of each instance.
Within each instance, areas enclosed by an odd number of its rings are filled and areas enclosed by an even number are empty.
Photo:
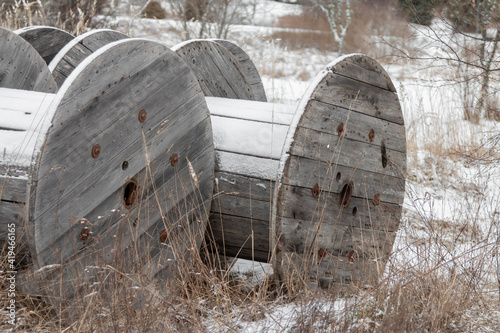
[[[99,48],[125,38],[128,36],[109,29],[92,30],[74,38],[57,53],[49,64],[56,83],[61,86],[73,69]]]

